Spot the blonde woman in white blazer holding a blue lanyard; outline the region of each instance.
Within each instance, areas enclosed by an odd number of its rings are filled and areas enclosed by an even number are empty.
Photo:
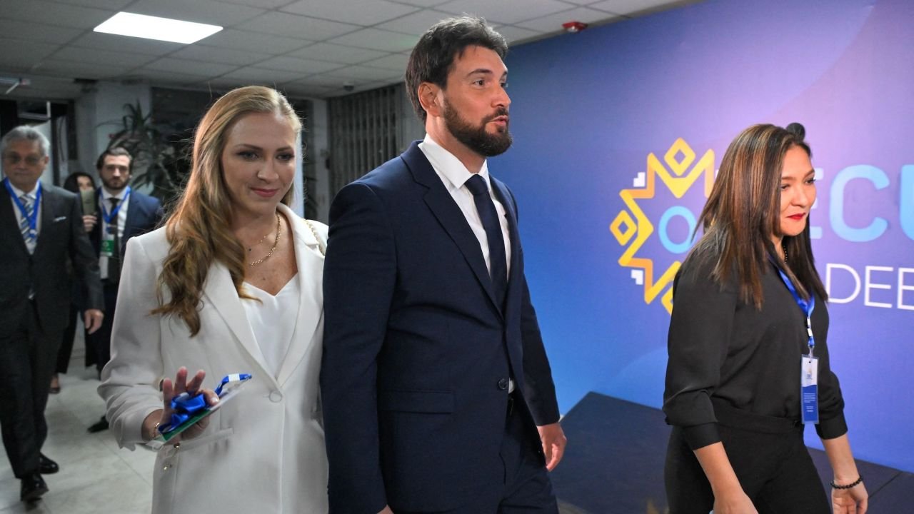
[[[326,227],[287,207],[301,127],[277,91],[228,92],[197,127],[174,215],[127,245],[118,302],[130,307],[116,313],[99,386],[118,443],[152,439],[174,395],[214,404],[217,380],[253,375],[158,450],[154,513],[327,511]]]

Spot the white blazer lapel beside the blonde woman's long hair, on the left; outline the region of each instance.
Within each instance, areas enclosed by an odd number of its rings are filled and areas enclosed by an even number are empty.
[[[214,262],[209,269],[207,283],[204,286],[204,295],[210,305],[213,305],[218,311],[219,316],[222,316],[232,334],[238,338],[241,347],[260,365],[262,376],[271,376],[271,373],[267,371],[266,359],[263,359],[263,353],[260,352],[257,339],[254,338],[254,333],[250,329],[248,315],[244,312],[244,305],[241,305],[238,292],[235,290],[235,284],[232,284],[231,275],[228,273],[228,269],[220,262]]]

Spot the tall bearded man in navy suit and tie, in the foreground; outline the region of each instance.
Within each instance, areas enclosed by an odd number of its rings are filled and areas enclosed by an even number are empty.
[[[566,440],[511,191],[505,39],[431,27],[406,82],[426,137],[344,187],[324,264],[330,512],[558,512]]]

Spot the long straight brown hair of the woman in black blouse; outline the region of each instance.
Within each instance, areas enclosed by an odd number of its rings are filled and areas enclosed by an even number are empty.
[[[740,298],[759,309],[763,299],[761,275],[768,271],[769,262],[787,274],[803,298],[812,293],[821,300],[828,298],[815,270],[808,220],[801,234],[782,239],[790,267],[781,261],[771,242],[771,236],[781,235],[779,186],[784,155],[799,146],[812,156],[804,137],[800,123],[787,128],[757,124],[730,143],[698,219],[705,233],[688,257],[716,259],[714,280],[726,284],[735,274]]]

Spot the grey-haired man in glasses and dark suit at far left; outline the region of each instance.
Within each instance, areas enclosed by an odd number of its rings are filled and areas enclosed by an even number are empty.
[[[23,501],[48,492],[41,475],[58,471],[41,446],[48,436],[51,375],[69,323],[72,275],[86,287],[87,330],[98,329],[103,317],[99,264],[82,225],[80,199],[39,181],[49,150],[48,138],[25,125],[0,141],[0,428]]]

